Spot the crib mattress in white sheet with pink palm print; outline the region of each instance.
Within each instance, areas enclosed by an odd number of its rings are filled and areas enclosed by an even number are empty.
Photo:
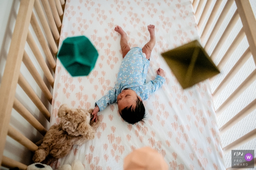
[[[124,29],[132,48],[148,42],[149,24],[155,25],[156,44],[146,82],[161,67],[166,83],[144,101],[145,122],[127,124],[118,114],[117,104],[108,106],[98,113],[102,123],[96,137],[74,145],[70,154],[52,164],[54,168],[79,159],[87,170],[121,170],[127,154],[150,146],[163,156],[170,170],[225,169],[208,80],[183,90],[161,57],[161,52],[200,40],[190,0],[67,0],[59,46],[66,37],[85,35],[99,57],[93,71],[83,77],[71,77],[57,59],[50,124],[59,123],[61,104],[94,108],[114,86],[122,61],[120,35],[114,27]]]

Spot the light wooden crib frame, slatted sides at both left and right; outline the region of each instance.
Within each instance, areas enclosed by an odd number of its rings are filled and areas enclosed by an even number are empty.
[[[222,70],[223,67],[225,67],[227,60],[230,58],[233,52],[237,48],[239,48],[238,45],[240,44],[244,36],[247,37],[249,47],[240,57],[237,63],[233,66],[230,72],[226,75],[223,81],[218,85],[216,90],[212,93],[213,99],[216,99],[217,96],[221,94],[222,90],[227,86],[227,84],[236,75],[236,73],[240,70],[240,68],[244,65],[244,63],[249,59],[251,55],[253,56],[253,59],[256,63],[256,20],[253,15],[249,0],[227,0],[227,3],[222,10],[221,15],[218,18],[217,23],[215,24],[210,34],[210,37],[207,39],[204,48],[206,51],[209,50],[234,1],[237,5],[237,11],[234,13],[229,24],[225,28],[225,31],[223,32],[210,57],[212,60],[214,60],[215,57],[218,55],[221,47],[227,40],[227,37],[229,36],[231,30],[234,28],[234,25],[236,24],[239,17],[241,18],[243,27],[234,39],[233,43],[231,43],[229,49],[226,51],[221,61],[218,63],[219,70]],[[204,0],[193,0],[191,3],[195,11],[196,19],[198,20],[198,29],[200,30],[202,28],[203,22],[206,20],[206,13],[211,6],[212,0],[207,0],[205,5]],[[209,18],[207,19],[206,26],[204,27],[201,35],[202,42],[204,41],[204,39],[206,39],[206,35],[210,30],[210,27],[214,21],[215,16],[217,15],[217,11],[221,3],[222,0],[217,0],[214,4],[214,7],[211,11]],[[32,152],[34,152],[38,148],[33,142],[25,137],[25,135],[21,134],[20,132],[15,130],[14,127],[9,125],[12,108],[19,112],[19,114],[22,115],[39,133],[45,135],[45,133],[47,132],[45,127],[42,126],[42,124],[40,124],[38,120],[34,118],[34,116],[27,110],[27,108],[23,106],[18,99],[15,98],[15,90],[18,83],[19,86],[22,87],[22,89],[26,92],[29,98],[33,101],[38,110],[45,116],[46,120],[50,121],[50,112],[35,94],[26,79],[22,76],[22,74],[20,74],[20,66],[22,62],[25,64],[48,101],[52,103],[52,94],[49,88],[46,86],[43,78],[38,74],[37,69],[31,62],[24,48],[27,41],[35,58],[37,59],[44,72],[44,76],[49,81],[50,86],[53,87],[54,78],[52,76],[52,71],[55,72],[56,68],[56,62],[54,58],[56,57],[58,51],[57,44],[59,43],[60,39],[60,30],[62,25],[61,20],[63,17],[64,6],[64,0],[41,0],[41,3],[39,0],[20,0],[20,7],[16,18],[14,32],[12,35],[11,46],[8,52],[4,75],[2,77],[0,86],[0,162],[1,166],[3,167],[19,167],[20,169],[24,170],[26,170],[27,168],[27,165],[14,161],[13,159],[5,157],[3,155],[5,139],[7,138],[7,135]],[[33,8],[35,9],[39,20],[35,16]],[[201,13],[202,15],[199,18],[199,15]],[[43,30],[41,29],[39,22],[41,23]],[[44,54],[50,64],[50,70],[44,58],[42,57],[42,54],[39,51],[39,48],[35,43],[31,32],[29,31],[30,24],[32,25],[37,39],[41,44],[40,48],[43,49]],[[45,39],[44,35],[47,37],[47,39]],[[215,77],[211,78],[210,82],[213,82],[214,79]],[[248,76],[248,78],[246,78],[244,82],[242,82],[240,86],[226,99],[226,101],[217,108],[217,116],[221,115],[222,112],[225,111],[225,109],[230,106],[230,104],[234,102],[234,100],[236,100],[238,96],[240,96],[242,92],[244,92],[246,88],[255,81],[255,79],[256,70],[254,70]],[[220,134],[225,133],[232,126],[238,123],[242,118],[255,110],[255,108],[256,99],[249,103],[246,107],[244,107],[226,124],[220,127]],[[256,129],[252,130],[251,132],[247,133],[236,141],[233,141],[229,145],[223,147],[223,152],[224,154],[229,153],[232,149],[236,149],[237,147],[254,138],[256,138]],[[231,167],[227,169],[231,169]]]

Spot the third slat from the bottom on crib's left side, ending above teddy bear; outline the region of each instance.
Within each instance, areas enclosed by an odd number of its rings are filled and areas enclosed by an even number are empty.
[[[22,115],[36,130],[39,131],[43,136],[46,134],[47,130],[42,126],[41,123],[24,107],[19,100],[14,99],[13,108]]]

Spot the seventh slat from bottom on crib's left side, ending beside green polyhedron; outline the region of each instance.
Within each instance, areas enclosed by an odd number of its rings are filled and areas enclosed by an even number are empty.
[[[32,12],[32,16],[31,16],[31,21],[30,21],[34,31],[35,31],[35,34],[37,35],[37,38],[39,40],[39,43],[41,44],[42,46],[42,49],[44,50],[44,53],[45,53],[45,56],[46,58],[48,59],[48,62],[50,63],[51,67],[52,67],[52,70],[55,72],[55,68],[56,68],[56,63],[53,59],[53,56],[52,56],[52,53],[50,51],[50,48],[48,47],[48,44],[44,38],[44,35],[42,33],[42,30],[41,28],[39,27],[39,24],[37,23],[37,19],[35,18],[35,14],[34,12]],[[52,38],[53,39],[53,38]],[[53,40],[54,42],[54,40]],[[55,42],[54,42],[54,45],[55,45]],[[56,45],[55,45],[56,46]]]

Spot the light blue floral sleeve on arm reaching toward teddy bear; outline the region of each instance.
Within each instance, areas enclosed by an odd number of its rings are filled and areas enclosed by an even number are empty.
[[[108,91],[107,94],[105,94],[104,96],[102,96],[101,99],[99,99],[96,103],[99,107],[99,111],[104,110],[109,104],[112,104],[114,102],[116,102],[116,98],[117,98],[117,93],[116,93],[116,86],[114,88],[112,88],[111,90]]]

